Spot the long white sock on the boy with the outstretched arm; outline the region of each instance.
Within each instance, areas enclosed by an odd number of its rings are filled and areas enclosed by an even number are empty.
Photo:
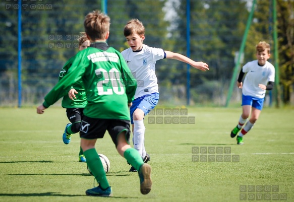
[[[145,153],[145,156],[146,156],[146,151],[144,147],[144,135],[145,135],[144,120],[134,120],[133,143],[134,143],[134,148],[139,152],[141,157],[143,156],[143,153]],[[143,149],[144,149],[144,152],[143,152]]]

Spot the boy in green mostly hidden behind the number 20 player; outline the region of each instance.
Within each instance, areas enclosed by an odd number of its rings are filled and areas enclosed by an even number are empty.
[[[85,32],[80,33],[81,36],[78,39],[79,41],[79,50],[84,50],[90,45],[90,41],[87,38]],[[72,66],[75,56],[71,57],[62,70],[60,71],[58,80],[61,81],[62,78],[68,73],[69,68]],[[63,133],[63,142],[64,144],[69,144],[71,141],[72,134],[80,131],[81,121],[83,117],[83,110],[87,104],[87,97],[85,92],[85,87],[82,80],[74,84],[69,90],[68,95],[65,95],[62,100],[62,107],[66,108],[66,113],[68,119],[71,123],[68,123],[66,129]],[[79,162],[86,162],[82,148],[80,148],[79,153]]]

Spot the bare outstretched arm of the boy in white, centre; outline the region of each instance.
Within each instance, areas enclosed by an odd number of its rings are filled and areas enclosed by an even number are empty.
[[[196,62],[196,61],[190,59],[189,57],[186,57],[185,55],[182,55],[180,53],[171,52],[168,50],[165,50],[164,52],[166,53],[166,58],[168,58],[168,59],[177,59],[182,62],[186,62],[186,63],[190,64],[191,66],[193,66],[193,68],[196,68],[201,71],[209,70],[208,64],[205,62]]]

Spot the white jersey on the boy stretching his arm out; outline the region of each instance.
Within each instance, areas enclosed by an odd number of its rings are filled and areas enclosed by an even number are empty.
[[[164,50],[143,45],[140,51],[128,48],[122,52],[122,55],[137,80],[135,99],[143,95],[158,93],[155,63],[164,58]]]

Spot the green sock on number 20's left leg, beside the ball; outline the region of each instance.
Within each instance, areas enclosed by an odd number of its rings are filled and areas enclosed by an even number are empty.
[[[97,154],[97,151],[94,148],[89,149],[84,152],[84,155],[87,159],[87,165],[91,170],[93,176],[99,183],[100,187],[102,189],[106,189],[107,187],[109,187],[108,181],[106,179],[106,174],[104,172],[103,165]]]

